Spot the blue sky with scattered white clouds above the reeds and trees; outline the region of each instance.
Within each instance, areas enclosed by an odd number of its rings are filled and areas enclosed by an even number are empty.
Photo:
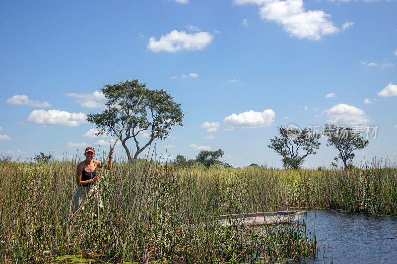
[[[395,162],[396,13],[385,0],[1,1],[0,154],[107,151],[86,114],[104,85],[138,79],[185,112],[158,157],[222,149],[234,166],[281,167],[277,126],[333,122],[377,127],[357,162]],[[337,154],[321,142],[306,167]]]

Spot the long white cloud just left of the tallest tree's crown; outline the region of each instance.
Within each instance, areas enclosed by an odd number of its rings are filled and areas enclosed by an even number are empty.
[[[30,112],[27,123],[60,126],[78,126],[87,123],[87,116],[84,113],[70,113],[57,109],[52,110],[33,110]]]

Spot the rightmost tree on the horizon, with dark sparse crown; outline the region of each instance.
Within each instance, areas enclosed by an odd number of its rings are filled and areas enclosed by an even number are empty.
[[[364,149],[369,143],[353,128],[335,126],[334,124],[324,126],[324,135],[328,137],[327,146],[332,146],[339,152],[334,158],[335,162],[340,158],[345,169],[352,166],[351,162],[355,157],[353,152]],[[332,165],[336,165],[336,163],[332,162]]]

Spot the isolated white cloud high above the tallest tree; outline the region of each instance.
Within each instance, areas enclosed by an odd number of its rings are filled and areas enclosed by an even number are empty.
[[[152,52],[172,53],[181,50],[202,50],[212,42],[213,38],[208,32],[189,34],[185,31],[173,30],[169,34],[162,35],[159,41],[154,37],[150,38],[147,48]]]

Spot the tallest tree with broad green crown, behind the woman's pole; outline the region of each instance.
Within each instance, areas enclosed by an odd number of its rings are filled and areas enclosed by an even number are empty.
[[[98,114],[88,114],[87,120],[96,124],[99,132],[96,135],[109,133],[118,137],[128,117],[136,105],[139,97],[143,97],[128,122],[124,135],[120,141],[126,150],[127,157],[131,161],[132,155],[127,147],[127,140],[133,138],[136,152],[133,159],[148,147],[155,139],[165,139],[169,130],[175,125],[183,126],[182,118],[184,113],[180,106],[173,101],[163,89],[149,90],[145,84],[139,83],[137,79],[125,81],[114,85],[106,85],[102,92],[108,99],[107,108]],[[147,131],[149,139],[139,145],[138,135]],[[139,139],[140,140],[140,139]]]

